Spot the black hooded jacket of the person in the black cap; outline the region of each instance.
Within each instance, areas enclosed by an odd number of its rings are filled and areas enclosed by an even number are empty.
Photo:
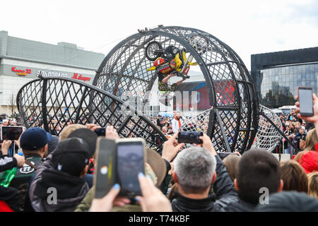
[[[54,189],[56,203],[53,198]],[[41,166],[30,184],[29,196],[36,212],[73,212],[89,190],[82,178]]]

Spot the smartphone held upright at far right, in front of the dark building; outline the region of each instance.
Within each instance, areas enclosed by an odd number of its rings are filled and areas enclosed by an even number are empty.
[[[298,87],[298,101],[300,107],[300,115],[313,116],[314,108],[312,103],[312,88],[311,87]]]

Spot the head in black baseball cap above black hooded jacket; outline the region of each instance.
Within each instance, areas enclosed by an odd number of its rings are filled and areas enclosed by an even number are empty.
[[[89,162],[88,143],[82,138],[66,138],[59,141],[52,152],[52,166],[54,169],[79,177]]]

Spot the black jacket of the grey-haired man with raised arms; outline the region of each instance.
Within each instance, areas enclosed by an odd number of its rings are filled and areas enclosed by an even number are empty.
[[[174,212],[223,212],[228,203],[238,201],[237,191],[222,160],[216,155],[216,181],[213,184],[215,194],[208,198],[187,198],[176,192],[172,200]]]

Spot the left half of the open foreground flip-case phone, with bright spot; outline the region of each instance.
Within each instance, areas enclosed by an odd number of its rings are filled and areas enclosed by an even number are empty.
[[[116,142],[105,137],[98,137],[96,141],[96,162],[94,185],[95,198],[107,195],[112,186],[117,183]]]

